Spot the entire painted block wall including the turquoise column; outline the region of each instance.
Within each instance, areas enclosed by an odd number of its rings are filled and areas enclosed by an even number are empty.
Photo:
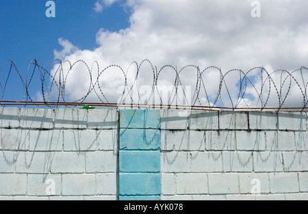
[[[307,200],[307,114],[0,109],[0,200]]]

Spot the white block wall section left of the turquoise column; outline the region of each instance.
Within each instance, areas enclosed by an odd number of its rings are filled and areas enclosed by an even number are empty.
[[[0,200],[116,200],[118,112],[0,109]]]

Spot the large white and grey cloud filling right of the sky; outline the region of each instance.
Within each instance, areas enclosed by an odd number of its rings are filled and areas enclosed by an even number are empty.
[[[115,1],[97,1],[94,8],[100,12],[103,10],[103,5],[112,5]],[[118,88],[123,85],[125,78],[123,71],[118,68],[102,70],[111,64],[121,66],[130,74],[126,80],[128,84],[136,80],[134,76],[136,69],[129,65],[131,62],[140,63],[143,59],[149,59],[154,66],[157,66],[157,70],[166,64],[177,69],[194,64],[201,71],[208,66],[217,66],[222,72],[233,68],[247,72],[258,66],[266,68],[268,72],[279,69],[292,71],[300,66],[306,66],[308,22],[305,8],[308,2],[259,1],[261,18],[251,16],[251,11],[254,9],[251,2],[127,0],[125,5],[131,8],[130,26],[127,29],[116,32],[99,29],[96,36],[99,47],[92,51],[79,50],[67,40],[60,40],[64,49],[55,51],[55,57],[70,62],[83,59],[89,65],[98,62],[100,70],[95,72],[97,75],[92,79],[97,78],[100,72],[103,73],[99,79],[100,87],[98,85],[95,87],[97,90],[103,88],[114,102],[118,100],[119,95],[116,92],[120,91]],[[127,68],[129,69],[126,70]],[[83,66],[76,66],[69,75],[72,77],[67,79],[66,90],[70,98],[80,98],[81,94],[75,89],[88,88],[90,82],[81,80],[81,77],[88,75],[88,71]],[[207,95],[215,100],[220,72],[215,69],[207,70],[203,75],[207,82],[207,93],[211,92]],[[251,72],[251,75],[257,75],[257,70]],[[151,65],[145,63],[138,76],[138,85],[151,85],[152,76]],[[192,91],[196,87],[197,77],[195,68],[187,68],[180,73],[182,83],[191,85]],[[224,80],[231,95],[227,90],[223,90],[226,96],[233,96],[235,100],[238,98],[240,78],[238,71],[228,73]],[[307,82],[307,77],[305,78]],[[277,77],[277,81],[280,79]],[[175,70],[172,68],[164,68],[159,73],[159,83],[162,85],[172,85],[174,82]],[[259,87],[261,90],[261,85],[258,86],[256,83],[255,88]],[[279,88],[280,86],[277,86],[277,90],[280,90]],[[247,89],[247,93],[251,92],[253,94],[251,96],[256,96],[253,91],[253,87]],[[296,92],[298,90],[294,89],[294,96],[301,96],[303,100],[303,95],[298,95]],[[202,99],[205,101],[205,92],[203,93]],[[92,92],[91,96],[95,100],[95,93]],[[300,101],[300,98],[298,100]],[[247,103],[257,101],[257,98],[246,97]]]

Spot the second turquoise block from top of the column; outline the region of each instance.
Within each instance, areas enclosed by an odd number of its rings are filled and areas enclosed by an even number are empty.
[[[160,131],[153,129],[121,129],[120,150],[159,150]]]

